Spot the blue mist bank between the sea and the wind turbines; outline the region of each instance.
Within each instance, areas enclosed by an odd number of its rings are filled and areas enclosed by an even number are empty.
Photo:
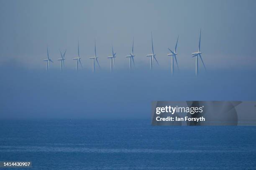
[[[202,68],[202,67],[201,67]],[[0,67],[1,119],[150,118],[154,100],[255,100],[255,71]]]

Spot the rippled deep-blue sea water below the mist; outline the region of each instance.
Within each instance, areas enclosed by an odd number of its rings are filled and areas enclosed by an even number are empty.
[[[34,170],[256,169],[255,126],[150,123],[1,120],[0,161],[32,161]]]

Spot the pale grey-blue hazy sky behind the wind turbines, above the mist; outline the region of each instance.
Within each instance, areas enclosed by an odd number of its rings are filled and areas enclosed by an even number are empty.
[[[203,58],[208,69],[254,69],[256,57],[255,0],[0,0],[0,64],[45,69],[46,45],[59,68],[59,49],[67,48],[67,66],[77,55],[91,69],[94,39],[103,68],[108,68],[111,44],[117,52],[117,68],[128,68],[124,56],[134,52],[138,67],[149,67],[150,32],[161,67],[169,69],[167,47],[174,49],[177,35],[181,69],[194,69],[199,30]]]

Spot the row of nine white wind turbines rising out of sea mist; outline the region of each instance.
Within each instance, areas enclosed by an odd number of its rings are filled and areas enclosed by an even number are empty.
[[[176,57],[176,55],[177,55],[178,40],[179,40],[179,36],[178,36],[176,44],[175,44],[174,52],[170,48],[168,48],[168,50],[171,52],[171,53],[168,53],[167,56],[171,56],[171,72],[172,72],[172,75],[174,74],[174,60],[175,60],[176,65],[177,65],[177,69],[179,70],[179,65],[178,65],[177,57]],[[96,40],[94,41],[94,45],[95,45],[95,48],[94,48],[95,55],[94,55],[94,57],[90,57],[89,58],[89,59],[93,59],[93,62],[92,62],[92,72],[95,72],[95,63],[96,62],[97,62],[98,67],[100,68],[100,63],[98,61],[99,57],[97,57],[97,55],[96,55]],[[199,35],[198,51],[197,52],[192,52],[192,57],[196,57],[196,61],[195,61],[195,75],[196,76],[198,75],[198,71],[199,71],[199,68],[198,68],[198,57],[200,57],[200,59],[202,61],[202,64],[203,64],[203,66],[204,66],[204,68],[206,70],[205,63],[203,62],[202,56],[201,56],[202,52],[200,50],[200,45],[201,45],[201,29],[200,29],[200,35]],[[133,63],[133,67],[135,67],[135,61],[134,61],[135,55],[133,54],[133,48],[134,48],[134,37],[133,37],[133,41],[132,41],[131,53],[130,53],[130,55],[125,56],[126,58],[129,59],[128,68],[129,68],[130,71],[132,70],[132,63]],[[67,50],[65,50],[63,55],[62,55],[62,53],[60,51],[61,58],[57,59],[57,60],[60,61],[60,70],[61,71],[63,70],[63,67],[64,67],[64,60],[66,59],[65,58],[66,51]],[[78,53],[78,56],[73,58],[73,60],[76,60],[75,70],[78,70],[79,64],[80,64],[81,67],[83,67],[82,66],[82,62],[81,62],[82,57],[80,57],[80,55],[79,55],[79,41],[78,41],[78,52],[77,53]],[[49,58],[48,45],[47,45],[47,57],[48,58],[44,60],[44,61],[46,61],[46,71],[49,70],[49,62],[53,62]],[[152,32],[151,32],[151,54],[146,55],[146,57],[149,57],[149,70],[153,69],[154,61],[156,61],[157,65],[160,67],[159,62],[156,59],[156,54],[154,52]],[[107,58],[110,59],[110,72],[113,72],[113,67],[115,67],[115,58],[116,58],[116,52],[114,52],[113,45],[112,45],[112,55],[108,56]]]

